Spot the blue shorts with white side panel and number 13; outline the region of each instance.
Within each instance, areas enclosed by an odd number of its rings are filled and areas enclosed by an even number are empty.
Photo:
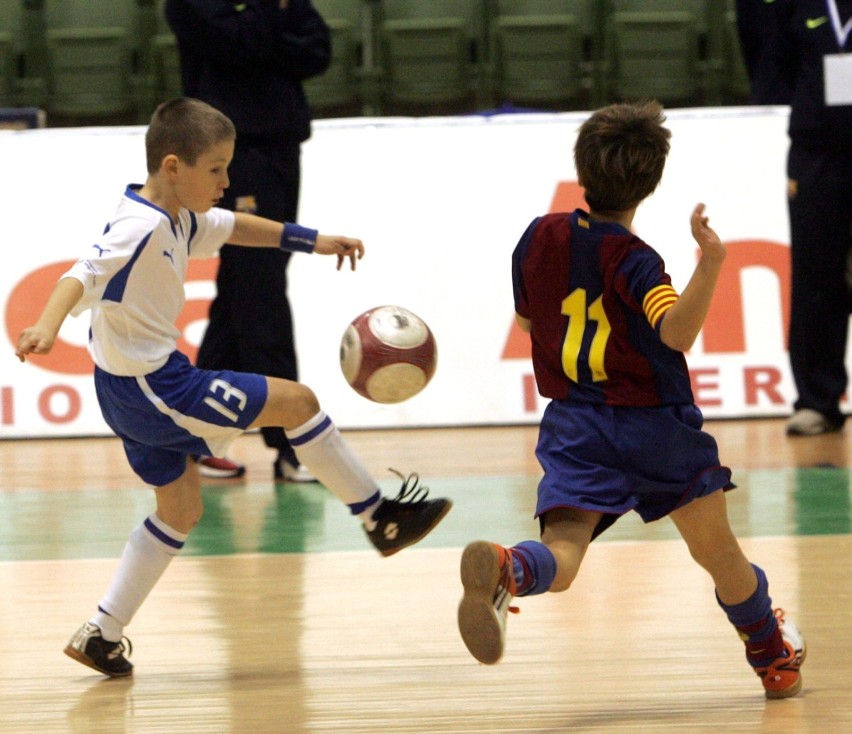
[[[266,405],[267,393],[263,375],[200,370],[180,352],[141,377],[95,367],[95,390],[131,468],[157,487],[184,473],[187,456],[224,456]]]

